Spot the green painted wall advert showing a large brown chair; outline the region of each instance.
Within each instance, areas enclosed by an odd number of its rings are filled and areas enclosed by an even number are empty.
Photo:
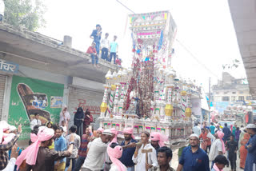
[[[56,106],[57,103],[51,104],[51,100],[53,97],[63,97],[63,90],[63,84],[13,76],[8,122],[11,125],[23,124],[20,139],[30,137],[30,120],[34,118],[34,113],[40,114],[42,123],[58,121],[61,104],[57,101],[59,105]]]

